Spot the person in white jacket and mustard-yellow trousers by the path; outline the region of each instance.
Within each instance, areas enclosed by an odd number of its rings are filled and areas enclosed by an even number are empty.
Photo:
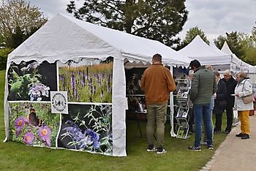
[[[249,110],[253,110],[253,102],[245,104],[242,97],[248,96],[253,93],[252,83],[246,78],[245,72],[239,72],[236,76],[238,84],[235,88],[235,105],[238,110],[238,118],[241,121],[241,132],[236,134],[236,137],[241,139],[249,139]]]

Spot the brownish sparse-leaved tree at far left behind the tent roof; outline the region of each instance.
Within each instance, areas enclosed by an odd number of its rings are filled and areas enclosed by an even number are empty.
[[[1,0],[0,6],[0,45],[17,47],[45,22],[46,18],[38,7],[30,6],[23,0]],[[21,37],[23,35],[23,37]],[[15,38],[19,37],[15,42]],[[15,44],[13,44],[15,42]]]

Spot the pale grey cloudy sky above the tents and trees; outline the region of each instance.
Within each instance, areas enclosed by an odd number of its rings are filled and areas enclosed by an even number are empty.
[[[29,2],[29,0],[26,0]],[[65,11],[69,0],[30,0],[30,4],[39,7],[46,18],[53,18],[59,12],[69,15]],[[80,7],[83,0],[76,0]],[[209,40],[231,31],[252,33],[256,26],[256,0],[187,0],[189,11],[188,20],[183,31],[178,35],[184,39],[189,28],[198,26]]]

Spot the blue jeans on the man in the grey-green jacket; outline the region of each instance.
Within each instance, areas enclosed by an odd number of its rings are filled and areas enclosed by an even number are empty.
[[[195,147],[200,147],[202,123],[206,126],[207,145],[213,145],[213,129],[211,121],[211,104],[194,104],[195,114]]]

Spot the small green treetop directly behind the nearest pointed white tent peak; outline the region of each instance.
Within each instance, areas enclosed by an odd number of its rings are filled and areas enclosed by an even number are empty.
[[[208,41],[206,34],[200,28],[198,28],[198,26],[195,26],[187,31],[184,40],[181,42],[180,45],[176,47],[176,50],[180,50],[183,47],[187,46],[197,35],[199,35],[203,39],[203,41],[209,45],[210,42]]]

